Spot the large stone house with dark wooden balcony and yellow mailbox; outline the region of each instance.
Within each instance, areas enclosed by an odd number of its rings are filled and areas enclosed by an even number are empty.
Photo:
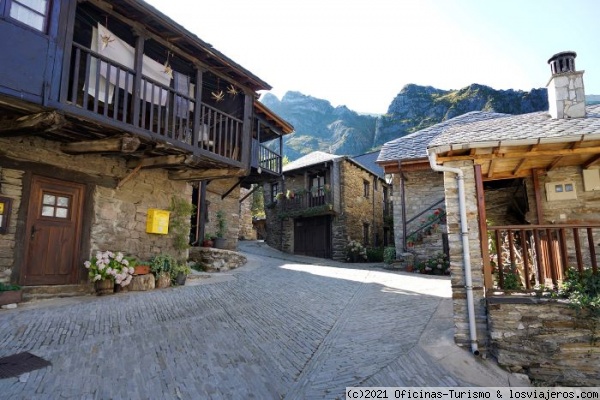
[[[185,258],[157,210],[202,187],[231,196],[237,239],[232,196],[280,176],[292,129],[270,86],[144,2],[44,4],[0,9],[0,281],[65,295],[95,250]]]

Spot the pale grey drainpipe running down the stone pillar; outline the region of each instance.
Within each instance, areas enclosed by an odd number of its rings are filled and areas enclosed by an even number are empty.
[[[451,172],[456,174],[458,180],[458,209],[460,213],[460,235],[463,247],[463,264],[465,266],[465,290],[467,292],[467,312],[469,317],[469,336],[471,339],[471,351],[474,355],[479,355],[477,348],[477,328],[475,325],[475,306],[473,302],[473,281],[471,279],[471,255],[469,253],[469,228],[467,226],[467,208],[465,205],[465,182],[464,173],[459,168],[444,167],[438,165],[436,154],[427,149],[427,156],[431,169],[440,172]]]

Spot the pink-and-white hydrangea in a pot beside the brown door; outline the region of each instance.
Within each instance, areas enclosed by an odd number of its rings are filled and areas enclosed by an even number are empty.
[[[129,285],[133,278],[134,264],[132,257],[112,251],[97,251],[91,260],[83,263],[98,296],[114,293],[115,285],[121,288]]]

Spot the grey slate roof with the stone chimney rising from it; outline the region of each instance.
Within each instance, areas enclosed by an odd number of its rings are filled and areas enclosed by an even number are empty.
[[[429,147],[452,148],[527,145],[550,142],[600,140],[600,105],[586,107],[585,118],[552,119],[548,112],[509,115],[468,125],[451,126],[440,132]]]

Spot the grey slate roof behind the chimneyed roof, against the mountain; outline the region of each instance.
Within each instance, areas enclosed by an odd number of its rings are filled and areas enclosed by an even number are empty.
[[[447,129],[458,126],[463,128],[465,124],[481,120],[490,120],[495,118],[504,118],[509,114],[501,114],[489,111],[471,111],[466,114],[459,115],[439,124],[430,126],[429,128],[421,129],[420,131],[411,133],[410,135],[402,136],[385,143],[377,158],[378,162],[394,161],[394,160],[410,160],[427,158],[427,145],[442,134]]]

